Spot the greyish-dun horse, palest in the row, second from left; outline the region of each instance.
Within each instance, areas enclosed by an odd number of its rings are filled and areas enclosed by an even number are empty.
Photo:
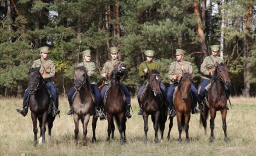
[[[74,110],[74,123],[75,123],[75,145],[78,144],[79,120],[83,124],[83,146],[87,146],[87,126],[90,116],[95,111],[94,96],[89,83],[89,76],[87,75],[85,66],[75,67],[75,93],[73,96],[73,110]],[[96,142],[95,129],[98,118],[92,118],[92,143]]]

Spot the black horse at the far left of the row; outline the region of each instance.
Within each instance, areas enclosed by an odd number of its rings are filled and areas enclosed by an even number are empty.
[[[40,67],[29,67],[28,72],[28,105],[30,106],[33,121],[34,146],[37,145],[37,119],[40,127],[39,143],[45,144],[46,123],[48,123],[48,141],[51,140],[51,129],[55,116],[51,114],[50,91],[39,72]]]

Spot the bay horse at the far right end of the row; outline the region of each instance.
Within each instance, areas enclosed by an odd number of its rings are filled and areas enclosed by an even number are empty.
[[[214,119],[216,117],[216,112],[220,110],[222,114],[222,128],[224,131],[224,141],[228,142],[228,137],[226,135],[226,102],[228,101],[228,95],[226,94],[226,86],[231,84],[231,80],[228,76],[228,67],[224,63],[215,63],[215,70],[213,73],[213,78],[210,80],[211,88],[208,90],[208,95],[204,100],[205,108],[201,110],[200,113],[200,124],[203,125],[206,134],[206,121],[208,119],[210,111],[210,128],[211,136],[210,143],[215,139],[214,137]]]

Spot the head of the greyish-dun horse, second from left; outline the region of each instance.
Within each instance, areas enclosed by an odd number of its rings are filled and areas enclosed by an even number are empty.
[[[85,84],[89,84],[85,66],[75,67],[75,90],[79,91]]]

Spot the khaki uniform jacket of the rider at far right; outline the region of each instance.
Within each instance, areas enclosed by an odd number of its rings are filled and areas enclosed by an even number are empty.
[[[213,60],[211,60],[211,58]],[[214,63],[216,62],[223,63],[223,60],[222,58],[218,56],[213,56],[213,55],[205,57],[200,67],[200,71],[203,73],[203,76],[202,76],[203,79],[208,79],[208,80],[211,79],[211,76],[209,76],[209,73],[210,73],[210,70],[214,71],[215,69]]]

